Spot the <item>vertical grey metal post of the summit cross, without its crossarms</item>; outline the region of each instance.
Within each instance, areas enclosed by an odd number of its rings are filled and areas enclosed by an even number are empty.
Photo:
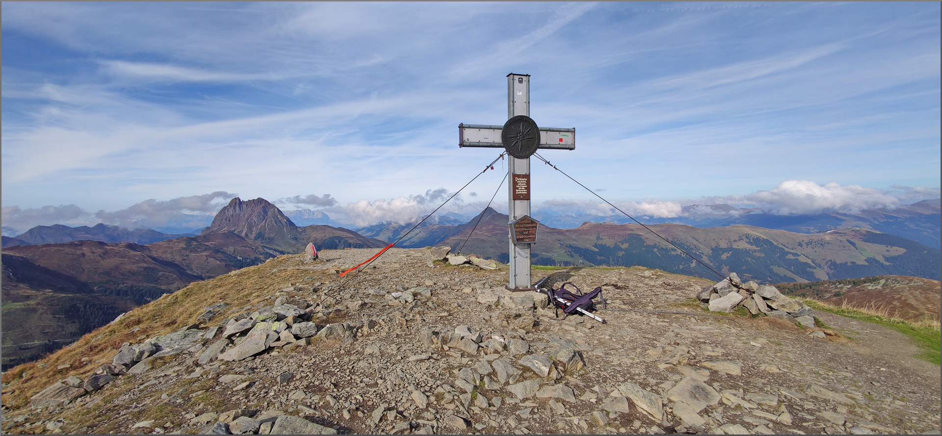
[[[507,74],[507,119],[517,115],[529,117],[529,74]],[[529,157],[523,159],[508,155],[507,165],[507,215],[511,221],[529,215]],[[513,200],[514,174],[527,174],[527,199]],[[520,197],[519,195],[517,196]],[[530,245],[514,243],[513,232],[508,226],[508,242],[510,243],[510,289],[525,289],[530,287]]]

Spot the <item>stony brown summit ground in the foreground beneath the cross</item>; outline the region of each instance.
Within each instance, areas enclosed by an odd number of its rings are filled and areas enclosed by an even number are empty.
[[[318,261],[283,255],[140,306],[38,363],[6,372],[2,429],[872,434],[939,428],[938,366],[913,359],[918,348],[879,325],[826,313],[815,313],[826,329],[711,313],[699,299],[716,306],[739,291],[643,267],[536,269],[556,287],[602,286],[609,301],[611,310],[597,313],[605,324],[578,315],[558,319],[544,295],[504,289],[506,266],[460,262],[447,257],[447,248],[388,250],[338,289],[350,276],[337,271],[375,252],[322,250]]]

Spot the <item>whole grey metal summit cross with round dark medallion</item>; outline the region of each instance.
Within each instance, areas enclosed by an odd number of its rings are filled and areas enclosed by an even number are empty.
[[[529,74],[507,74],[507,119],[508,124],[514,117],[524,116],[533,127],[536,124],[529,120]],[[516,122],[516,121],[514,121]],[[507,149],[513,153],[512,146],[505,142],[505,125],[485,124],[459,124],[459,147],[485,147]],[[523,125],[523,124],[522,124]],[[576,150],[576,129],[561,129],[555,127],[537,127],[539,131],[538,146],[542,150]],[[524,132],[528,134],[528,131]],[[519,139],[522,136],[518,129],[514,135]],[[532,138],[532,137],[531,137]],[[507,173],[511,183],[508,185],[508,223],[510,242],[510,280],[507,288],[513,291],[532,290],[530,278],[530,244],[536,241],[536,225],[539,223],[529,218],[530,214],[530,183],[529,183],[529,155],[536,151],[531,149],[524,157],[508,155]],[[533,241],[533,242],[525,242]]]

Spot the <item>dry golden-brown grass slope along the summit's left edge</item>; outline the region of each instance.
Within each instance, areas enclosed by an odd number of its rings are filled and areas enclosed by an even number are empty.
[[[220,301],[229,303],[226,311],[214,319],[237,314],[245,306],[253,305],[275,294],[287,283],[300,283],[307,276],[313,282],[330,282],[336,276],[324,271],[300,269],[301,255],[286,255],[258,266],[249,266],[240,273],[230,273],[215,279],[191,283],[189,286],[160,299],[135,308],[120,321],[91,331],[68,347],[61,348],[38,362],[24,363],[3,374],[3,405],[18,409],[28,404],[29,397],[39,393],[57,380],[71,375],[87,378],[101,364],[110,363],[125,342],[137,344],[143,339],[179,331],[196,322],[203,308]],[[273,271],[274,268],[277,270]],[[234,271],[237,272],[237,271]],[[325,277],[326,276],[326,277]],[[139,329],[138,331],[134,331]],[[39,367],[38,363],[44,363]],[[57,369],[69,363],[69,368]]]

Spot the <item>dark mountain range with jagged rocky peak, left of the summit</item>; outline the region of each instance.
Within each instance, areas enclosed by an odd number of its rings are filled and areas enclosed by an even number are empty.
[[[235,198],[199,235],[150,244],[78,240],[5,247],[4,367],[33,360],[189,283],[301,252],[309,242],[318,250],[385,245],[347,229],[298,227],[270,202]],[[37,341],[61,342],[8,347]]]

